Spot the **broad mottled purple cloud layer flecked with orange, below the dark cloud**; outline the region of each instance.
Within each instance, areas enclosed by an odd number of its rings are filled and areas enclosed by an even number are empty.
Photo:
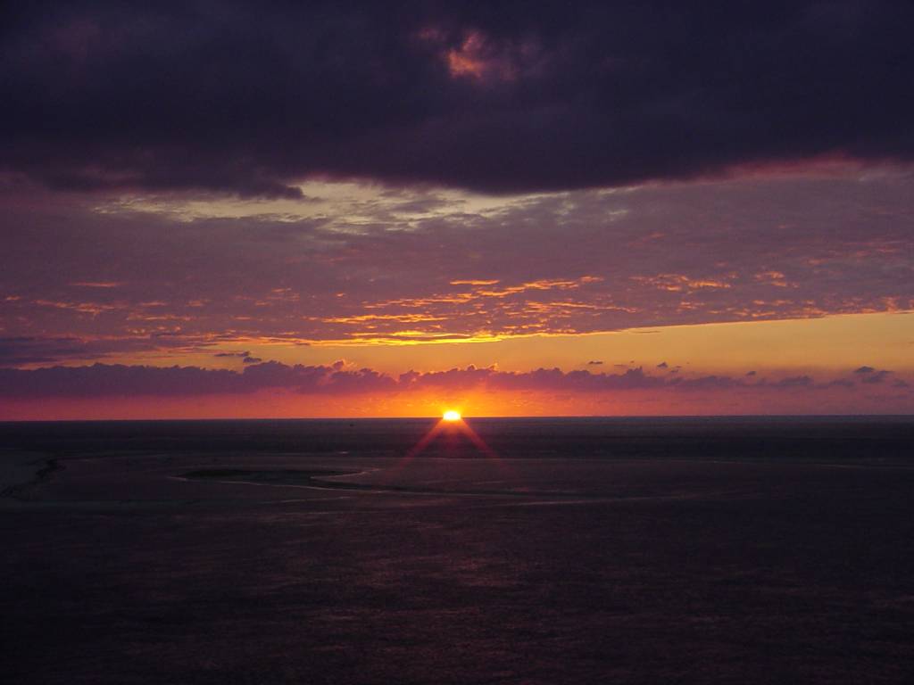
[[[342,213],[186,220],[6,197],[0,325],[23,359],[53,362],[70,352],[50,354],[55,343],[43,341],[71,338],[91,359],[143,345],[462,340],[905,311],[911,194],[909,174],[845,169],[506,199],[474,212],[455,202],[404,217],[396,207],[416,196],[402,191],[370,195],[358,223]],[[72,285],[90,281],[117,285]]]

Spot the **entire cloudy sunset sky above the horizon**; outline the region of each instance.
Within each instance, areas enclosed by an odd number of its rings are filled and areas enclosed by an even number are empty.
[[[912,24],[5,3],[0,419],[914,413]]]

